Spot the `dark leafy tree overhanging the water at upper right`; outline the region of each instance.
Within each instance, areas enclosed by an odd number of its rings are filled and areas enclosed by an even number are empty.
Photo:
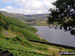
[[[67,30],[74,30],[75,28],[75,0],[57,0],[53,3],[55,9],[50,9],[48,16],[48,23],[53,24],[57,22]],[[60,28],[61,28],[60,27]],[[75,33],[75,31],[72,31]]]

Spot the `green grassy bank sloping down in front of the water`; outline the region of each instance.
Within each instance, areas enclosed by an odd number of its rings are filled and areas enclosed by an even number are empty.
[[[9,50],[14,56],[46,56],[45,54],[57,54],[62,47],[33,43],[28,41],[40,39],[35,32],[35,28],[20,22],[14,18],[0,15],[2,20],[9,23],[9,29],[2,29],[0,32],[0,49]],[[1,28],[1,27],[0,27]]]

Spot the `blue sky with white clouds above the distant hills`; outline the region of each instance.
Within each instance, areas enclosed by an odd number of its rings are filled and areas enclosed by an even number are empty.
[[[0,0],[0,10],[21,14],[48,13],[56,0]]]

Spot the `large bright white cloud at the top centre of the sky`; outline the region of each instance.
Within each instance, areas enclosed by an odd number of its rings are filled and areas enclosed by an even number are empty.
[[[44,8],[45,6],[53,7],[51,4],[53,1],[56,0],[13,0],[15,4],[20,5],[21,7],[32,9]]]

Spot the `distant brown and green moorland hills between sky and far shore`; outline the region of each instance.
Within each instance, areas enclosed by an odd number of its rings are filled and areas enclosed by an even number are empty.
[[[36,14],[36,15],[23,15],[18,13],[9,13],[6,11],[0,11],[0,13],[21,20],[30,25],[47,25],[47,16],[48,14]],[[43,23],[39,23],[41,21],[45,21]]]

